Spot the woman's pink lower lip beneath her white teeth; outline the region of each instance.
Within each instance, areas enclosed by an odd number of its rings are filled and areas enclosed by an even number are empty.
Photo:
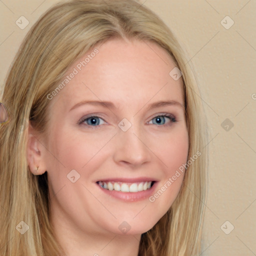
[[[97,183],[96,183],[96,185],[102,191],[104,191],[106,194],[108,194],[110,196],[113,196],[115,198],[118,198],[118,199],[121,199],[124,201],[132,201],[133,202],[133,201],[139,201],[139,200],[144,200],[146,198],[149,198],[149,196],[153,194],[153,191],[156,187],[156,183],[157,182],[154,182],[154,184],[150,188],[143,190],[143,191],[138,191],[138,192],[122,192],[122,191],[108,190],[108,189],[101,187]]]

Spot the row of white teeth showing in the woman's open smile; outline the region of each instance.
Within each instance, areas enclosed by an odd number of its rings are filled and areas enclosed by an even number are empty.
[[[106,190],[115,190],[122,192],[139,192],[150,189],[154,181],[142,181],[142,182],[120,182],[120,181],[97,181],[99,186]]]

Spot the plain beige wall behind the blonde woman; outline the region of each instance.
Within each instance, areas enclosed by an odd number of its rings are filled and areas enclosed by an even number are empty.
[[[24,35],[57,0],[0,0],[0,85]],[[256,1],[141,0],[172,29],[196,70],[209,121],[201,255],[256,255]],[[25,16],[20,29],[15,21]],[[225,16],[234,24],[226,29]],[[225,26],[231,24],[224,19]],[[226,119],[233,127],[226,131]],[[230,125],[230,124],[228,124]],[[228,126],[230,128],[230,126]],[[220,228],[229,232],[225,234]],[[254,242],[253,242],[254,241]]]

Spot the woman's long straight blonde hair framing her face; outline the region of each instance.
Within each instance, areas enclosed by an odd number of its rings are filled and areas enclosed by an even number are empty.
[[[9,121],[0,125],[0,255],[63,255],[49,223],[47,173],[33,175],[26,160],[28,121],[47,129],[47,94],[67,68],[110,38],[137,38],[164,48],[182,71],[189,135],[181,189],[166,214],[141,235],[139,256],[200,253],[206,196],[206,125],[197,82],[169,28],[134,0],[73,0],[51,7],[32,26],[8,73],[2,102]],[[29,231],[16,226],[24,221]]]

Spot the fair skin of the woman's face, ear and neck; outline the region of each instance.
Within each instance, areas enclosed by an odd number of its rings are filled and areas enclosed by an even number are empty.
[[[135,256],[141,233],[169,209],[184,173],[154,202],[148,197],[117,199],[95,182],[110,177],[153,177],[158,181],[156,192],[186,162],[183,84],[181,78],[171,78],[175,64],[153,42],[111,39],[97,49],[95,57],[50,100],[49,136],[29,126],[27,157],[34,174],[47,171],[50,221],[66,255]],[[111,101],[116,108],[84,104],[70,110],[83,100]],[[164,100],[180,105],[148,108]],[[174,115],[176,122],[163,117],[165,124],[157,125],[154,117],[165,113]],[[93,129],[86,121],[77,124],[88,114],[102,118],[99,128]],[[131,123],[125,132],[117,125],[123,118]],[[74,183],[67,178],[72,169],[80,174]],[[130,225],[125,234],[118,228],[123,221]]]

